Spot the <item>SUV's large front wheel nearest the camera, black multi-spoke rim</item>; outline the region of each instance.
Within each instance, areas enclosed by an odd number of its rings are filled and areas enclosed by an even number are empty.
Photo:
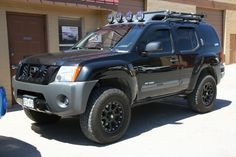
[[[116,88],[102,88],[91,94],[87,109],[80,116],[80,126],[90,140],[108,144],[125,134],[130,117],[127,95]]]

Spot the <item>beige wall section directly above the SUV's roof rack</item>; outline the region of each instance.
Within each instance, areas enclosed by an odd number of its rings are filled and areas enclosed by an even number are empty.
[[[196,12],[196,6],[194,5],[173,3],[164,0],[147,0],[146,9],[147,11],[171,10],[171,11],[192,12],[192,13]]]

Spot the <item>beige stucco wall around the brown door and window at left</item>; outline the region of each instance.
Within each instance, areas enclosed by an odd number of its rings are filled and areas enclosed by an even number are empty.
[[[7,90],[11,104],[11,78],[6,12],[33,13],[46,15],[48,51],[59,51],[58,19],[60,17],[81,18],[82,35],[95,30],[106,23],[104,19],[109,11],[84,8],[75,5],[54,5],[40,1],[0,0],[0,85]]]

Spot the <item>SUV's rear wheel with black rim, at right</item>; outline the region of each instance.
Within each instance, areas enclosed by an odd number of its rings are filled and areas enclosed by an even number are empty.
[[[211,75],[200,76],[193,92],[188,95],[189,106],[193,111],[206,113],[214,108],[216,100],[216,81]]]

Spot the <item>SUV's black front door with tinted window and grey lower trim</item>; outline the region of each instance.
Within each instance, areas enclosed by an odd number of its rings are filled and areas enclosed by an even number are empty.
[[[161,48],[146,56],[139,55],[135,63],[139,99],[172,94],[179,90],[179,61],[174,52],[170,28],[151,26],[138,42],[138,53],[145,51],[150,42],[160,42]]]

